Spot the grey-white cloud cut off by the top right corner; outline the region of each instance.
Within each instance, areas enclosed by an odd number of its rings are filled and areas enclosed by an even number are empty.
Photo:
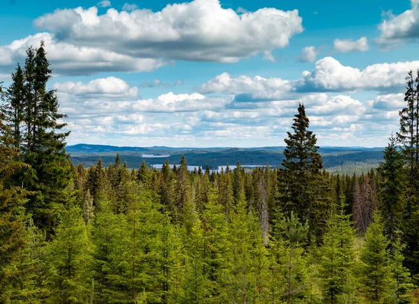
[[[418,42],[419,38],[419,2],[411,0],[411,9],[400,15],[391,12],[383,14],[384,20],[378,25],[381,35],[376,42],[384,47],[395,46],[402,41]]]

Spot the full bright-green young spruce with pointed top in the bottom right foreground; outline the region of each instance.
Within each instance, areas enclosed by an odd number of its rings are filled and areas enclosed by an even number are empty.
[[[374,222],[367,229],[365,243],[361,250],[364,295],[369,303],[389,303],[386,301],[391,296],[393,281],[388,244],[381,216],[374,213]]]

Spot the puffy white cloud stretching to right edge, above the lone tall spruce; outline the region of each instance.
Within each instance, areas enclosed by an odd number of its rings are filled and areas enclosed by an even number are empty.
[[[300,79],[264,78],[222,73],[202,84],[200,93],[234,94],[236,100],[275,100],[291,93],[344,91],[399,91],[404,88],[406,73],[418,68],[419,61],[376,63],[364,70],[344,66],[332,57],[316,62]]]

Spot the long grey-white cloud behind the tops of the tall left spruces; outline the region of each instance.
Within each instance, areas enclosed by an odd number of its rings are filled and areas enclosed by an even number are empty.
[[[57,41],[51,33],[37,33],[10,45],[0,46],[0,73],[10,73],[17,62],[24,61],[26,50],[45,42],[54,75],[91,75],[103,72],[149,72],[168,64],[163,59],[140,59],[98,47],[75,46]]]

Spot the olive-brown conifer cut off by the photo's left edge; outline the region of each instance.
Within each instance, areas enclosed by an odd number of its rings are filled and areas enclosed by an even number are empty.
[[[8,137],[10,128],[3,124],[4,118],[0,113],[0,303],[22,303],[31,298],[24,282],[28,278],[27,271],[19,266],[29,241],[24,226],[24,204],[31,193],[10,186],[13,174],[28,166],[17,160],[19,151],[15,139]]]

